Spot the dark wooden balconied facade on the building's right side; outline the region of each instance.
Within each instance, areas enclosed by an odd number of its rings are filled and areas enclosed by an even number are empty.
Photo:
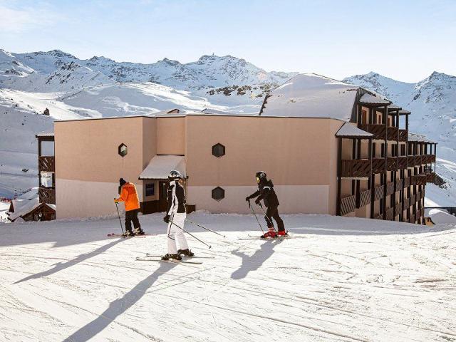
[[[352,115],[351,121],[372,137],[338,138],[337,214],[343,216],[370,206],[373,219],[425,224],[425,185],[435,178],[437,143],[410,138],[410,112],[395,105],[358,103],[357,110],[358,115]],[[405,129],[399,127],[401,116],[405,118]],[[362,157],[363,139],[368,140],[368,153]],[[342,158],[345,140],[353,145],[351,159]],[[381,146],[380,155],[373,152],[373,144]],[[375,182],[379,179],[380,185]],[[342,195],[343,182],[351,186],[351,194]],[[367,182],[367,189],[361,187],[361,182]]]

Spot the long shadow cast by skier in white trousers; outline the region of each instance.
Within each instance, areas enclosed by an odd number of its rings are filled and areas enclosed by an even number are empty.
[[[160,267],[153,274],[140,281],[138,285],[136,285],[128,293],[124,294],[122,298],[112,301],[109,304],[108,309],[103,311],[103,314],[100,314],[98,318],[95,318],[93,321],[87,323],[71,336],[68,336],[68,338],[63,340],[63,342],[89,341],[90,338],[93,338],[98,333],[103,331],[103,329],[106,328],[111,322],[113,322],[115,318],[135,305],[142,298],[142,296],[145,295],[147,289],[149,289],[162,274],[170,271],[175,266],[176,264],[173,263],[161,263]]]

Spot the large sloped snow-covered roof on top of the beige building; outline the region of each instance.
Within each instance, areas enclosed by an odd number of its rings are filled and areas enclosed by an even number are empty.
[[[266,96],[260,115],[350,121],[359,88],[314,73],[300,73]]]

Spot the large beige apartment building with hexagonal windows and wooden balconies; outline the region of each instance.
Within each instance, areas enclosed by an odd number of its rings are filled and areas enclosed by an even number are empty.
[[[436,144],[408,133],[408,115],[361,87],[300,74],[267,95],[257,115],[170,110],[56,121],[53,134],[37,135],[40,200],[56,204],[57,218],[113,214],[123,177],[143,213],[160,212],[177,169],[190,210],[247,213],[244,199],[263,170],[282,213],[423,223]],[[43,154],[49,143],[53,152]]]

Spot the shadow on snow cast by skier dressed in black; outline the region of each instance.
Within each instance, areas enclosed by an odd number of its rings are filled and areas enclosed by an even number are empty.
[[[243,279],[249,274],[249,271],[256,271],[259,267],[271,257],[274,253],[274,247],[277,244],[280,244],[282,240],[266,240],[264,244],[261,244],[261,248],[257,250],[252,256],[249,256],[245,253],[232,251],[231,253],[234,254],[236,257],[242,258],[242,264],[239,269],[234,271],[231,275],[232,279]]]

